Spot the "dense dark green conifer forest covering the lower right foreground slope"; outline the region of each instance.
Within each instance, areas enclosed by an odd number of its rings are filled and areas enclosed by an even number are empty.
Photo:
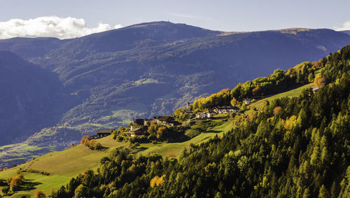
[[[52,197],[349,197],[350,45],[323,61],[315,93],[236,115],[179,159],[120,148]]]

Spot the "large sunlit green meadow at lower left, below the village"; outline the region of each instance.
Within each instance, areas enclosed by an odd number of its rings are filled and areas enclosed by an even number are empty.
[[[105,137],[98,141],[109,149],[101,152],[79,145],[60,152],[48,153],[13,169],[1,171],[0,178],[6,179],[9,176],[15,176],[20,169],[24,171],[47,172],[50,173],[49,176],[40,173],[25,172],[25,185],[13,197],[34,195],[35,190],[38,189],[48,193],[52,188],[56,189],[65,185],[72,177],[82,174],[86,169],[95,170],[99,164],[99,160],[109,155],[109,152],[113,148],[127,146],[127,143],[118,143],[111,139],[111,137]]]

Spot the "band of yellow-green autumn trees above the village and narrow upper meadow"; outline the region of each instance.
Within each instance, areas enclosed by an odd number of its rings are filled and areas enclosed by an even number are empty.
[[[215,106],[236,106],[245,98],[260,98],[264,95],[277,94],[298,87],[306,83],[314,82],[315,71],[321,69],[325,59],[318,62],[303,62],[297,64],[288,71],[276,69],[267,77],[248,80],[246,83],[239,83],[232,90],[221,90],[207,98],[200,98],[193,102],[193,111],[204,111]]]

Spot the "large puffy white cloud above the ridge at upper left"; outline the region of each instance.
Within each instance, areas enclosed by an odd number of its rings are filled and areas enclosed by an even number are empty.
[[[11,19],[0,22],[0,39],[18,36],[76,38],[120,27],[122,27],[121,24],[116,24],[112,28],[109,24],[99,23],[97,27],[89,28],[84,19],[74,17],[45,16],[29,20]]]

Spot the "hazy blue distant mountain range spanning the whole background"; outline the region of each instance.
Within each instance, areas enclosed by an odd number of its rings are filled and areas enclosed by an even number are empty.
[[[0,145],[27,139],[59,150],[348,44],[350,35],[331,29],[223,32],[171,22],[66,40],[0,40],[11,51],[0,52]]]

